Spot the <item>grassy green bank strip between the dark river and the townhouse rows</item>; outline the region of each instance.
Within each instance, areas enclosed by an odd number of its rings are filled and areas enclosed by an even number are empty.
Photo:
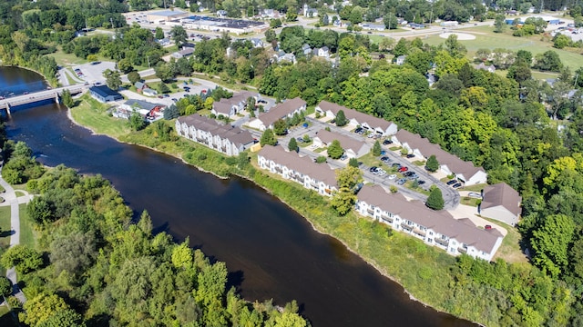
[[[70,111],[67,114],[74,124],[82,125],[98,134],[91,126],[79,124]],[[169,122],[164,123],[173,125]],[[355,213],[338,217],[328,205],[328,199],[314,197],[312,192],[302,188],[301,185],[278,180],[277,177],[257,169],[257,166],[241,170],[236,163],[229,160],[234,158],[225,158],[204,146],[180,138],[174,142],[159,142],[151,132],[147,129],[112,138],[118,142],[136,144],[172,155],[183,163],[220,178],[228,178],[232,174],[256,183],[293,211],[300,213],[312,225],[313,230],[331,235],[384,277],[402,285],[410,299],[433,307],[437,311],[452,313],[441,304],[452,301],[453,294],[448,288],[448,283],[453,282],[449,271],[455,265],[454,257],[428,247],[412,237],[391,233],[384,224],[375,223]],[[255,163],[254,160],[252,162]],[[463,313],[455,315],[476,320]]]

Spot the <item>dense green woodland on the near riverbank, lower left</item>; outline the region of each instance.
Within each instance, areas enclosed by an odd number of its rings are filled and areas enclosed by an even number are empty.
[[[19,317],[27,325],[307,325],[297,305],[280,312],[241,300],[227,288],[224,263],[210,263],[188,240],[153,234],[148,213],[131,223],[132,211],[99,175],[57,166],[28,188],[52,214],[36,220],[50,263],[24,245],[1,259],[22,273],[28,301]]]

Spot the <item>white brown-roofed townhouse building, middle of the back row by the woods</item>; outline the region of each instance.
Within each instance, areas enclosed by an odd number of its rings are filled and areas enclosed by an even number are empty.
[[[381,136],[397,133],[397,125],[393,122],[374,117],[370,114],[364,114],[353,109],[348,109],[340,104],[332,104],[328,101],[322,100],[315,108],[316,113],[325,117],[331,117],[331,119],[336,118],[336,114],[341,110],[349,121],[348,125],[352,128],[361,126],[368,131],[381,134]]]

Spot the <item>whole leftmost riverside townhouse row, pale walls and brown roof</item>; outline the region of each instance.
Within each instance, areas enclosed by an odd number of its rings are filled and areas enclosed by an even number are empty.
[[[239,155],[255,143],[249,131],[219,124],[199,114],[179,117],[175,127],[180,136],[230,156]]]

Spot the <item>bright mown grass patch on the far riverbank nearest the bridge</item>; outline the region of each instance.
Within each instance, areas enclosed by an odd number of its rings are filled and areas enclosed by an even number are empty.
[[[128,121],[109,117],[105,112],[107,104],[101,104],[88,94],[80,98],[80,104],[71,108],[73,119],[84,126],[91,126],[91,129],[98,134],[108,134],[118,137],[129,133]]]

